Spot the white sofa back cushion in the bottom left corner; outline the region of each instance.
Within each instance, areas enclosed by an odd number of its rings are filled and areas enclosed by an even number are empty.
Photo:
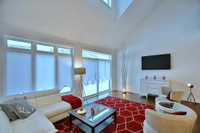
[[[0,133],[12,133],[12,127],[8,116],[0,109]]]

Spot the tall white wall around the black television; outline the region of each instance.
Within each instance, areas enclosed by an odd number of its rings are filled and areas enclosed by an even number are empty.
[[[139,93],[140,79],[146,75],[166,76],[170,86],[183,90],[186,100],[194,84],[193,93],[200,102],[200,1],[162,1],[130,37],[128,42],[127,91]],[[117,88],[121,90],[120,63],[122,51],[117,52]],[[171,70],[141,70],[141,56],[171,54]]]

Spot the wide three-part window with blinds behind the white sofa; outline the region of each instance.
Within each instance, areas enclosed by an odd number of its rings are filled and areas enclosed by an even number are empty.
[[[71,49],[6,37],[4,95],[72,88]]]

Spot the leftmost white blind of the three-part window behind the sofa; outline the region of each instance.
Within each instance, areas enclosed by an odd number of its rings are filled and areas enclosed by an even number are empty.
[[[7,52],[6,95],[32,91],[31,54]]]

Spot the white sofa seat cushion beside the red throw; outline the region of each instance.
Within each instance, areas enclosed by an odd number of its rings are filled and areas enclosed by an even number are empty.
[[[72,109],[71,105],[64,101],[38,108],[38,110],[42,114],[44,114],[47,118],[54,117],[56,115],[67,112],[71,109]]]

